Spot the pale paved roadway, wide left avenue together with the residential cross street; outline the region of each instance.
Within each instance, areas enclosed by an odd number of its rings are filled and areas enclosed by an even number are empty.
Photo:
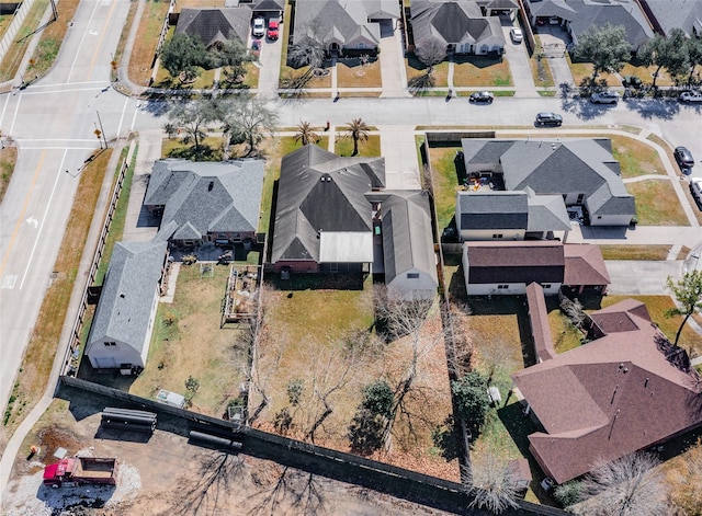
[[[165,103],[136,101],[110,88],[110,61],[127,9],[126,0],[83,0],[50,73],[26,90],[0,96],[0,126],[20,147],[12,184],[0,206],[2,406],[52,280],[81,167],[98,148],[93,131],[104,129],[110,140],[132,130],[158,128],[165,122]],[[535,113],[555,111],[563,114],[565,126],[574,128],[648,128],[673,145],[687,146],[698,160],[702,158],[702,106],[682,106],[673,101],[627,100],[616,106],[557,98],[498,98],[486,106],[469,105],[465,98],[271,102],[281,126],[295,126],[303,119],[313,125],[327,121],[343,125],[361,117],[384,131],[407,131],[420,125],[530,126]],[[535,134],[558,130],[537,129]],[[694,175],[702,175],[701,164]]]

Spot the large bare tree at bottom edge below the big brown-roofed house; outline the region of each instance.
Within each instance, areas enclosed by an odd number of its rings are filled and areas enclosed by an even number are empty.
[[[587,516],[669,514],[668,488],[658,459],[645,452],[600,461],[582,481],[585,502],[570,507]]]

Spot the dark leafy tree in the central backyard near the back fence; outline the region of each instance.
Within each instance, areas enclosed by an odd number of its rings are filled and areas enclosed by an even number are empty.
[[[349,425],[351,448],[371,452],[383,445],[383,432],[392,416],[395,394],[385,380],[377,380],[363,388],[363,400]]]

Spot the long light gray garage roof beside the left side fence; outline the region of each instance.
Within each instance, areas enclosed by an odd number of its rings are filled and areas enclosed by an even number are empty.
[[[88,355],[92,343],[102,345],[105,340],[141,352],[167,246],[163,241],[115,244],[88,339]]]

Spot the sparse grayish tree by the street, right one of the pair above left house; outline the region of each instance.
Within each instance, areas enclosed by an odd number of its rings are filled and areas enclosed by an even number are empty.
[[[246,156],[251,156],[263,137],[275,130],[278,113],[259,99],[241,96],[222,106],[220,121],[230,140],[240,137],[248,146]]]

